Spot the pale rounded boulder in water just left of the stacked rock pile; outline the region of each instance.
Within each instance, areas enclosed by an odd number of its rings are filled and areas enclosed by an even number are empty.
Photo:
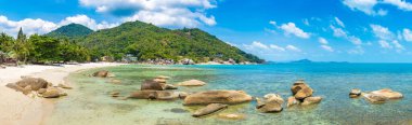
[[[260,112],[271,113],[271,112],[281,112],[283,110],[283,98],[276,94],[268,94],[265,96],[265,99],[256,98],[257,106]]]

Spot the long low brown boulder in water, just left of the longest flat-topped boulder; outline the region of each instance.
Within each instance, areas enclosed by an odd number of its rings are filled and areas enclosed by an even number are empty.
[[[138,91],[133,92],[129,98],[134,99],[157,99],[157,100],[171,100],[180,98],[180,92],[168,91]]]

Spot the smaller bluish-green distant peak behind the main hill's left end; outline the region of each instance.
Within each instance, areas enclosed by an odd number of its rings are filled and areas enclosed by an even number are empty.
[[[93,30],[89,29],[86,26],[79,25],[79,24],[69,24],[63,27],[60,27],[44,36],[52,37],[52,38],[67,38],[67,39],[79,39],[81,37],[86,37],[93,32]]]

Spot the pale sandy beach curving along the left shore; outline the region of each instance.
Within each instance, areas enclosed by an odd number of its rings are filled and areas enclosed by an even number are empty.
[[[20,92],[8,88],[8,83],[21,80],[22,75],[42,78],[57,85],[75,71],[99,67],[118,66],[121,64],[94,63],[82,65],[53,66],[24,66],[23,68],[8,67],[0,69],[0,124],[1,125],[38,125],[44,115],[51,113],[51,100],[39,97],[29,97]]]

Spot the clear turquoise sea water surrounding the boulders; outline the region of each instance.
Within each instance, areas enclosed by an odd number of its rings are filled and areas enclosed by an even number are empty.
[[[412,64],[275,64],[252,66],[139,66],[127,65],[102,68],[116,74],[121,84],[112,79],[88,77],[101,69],[73,73],[68,81],[74,89],[59,99],[55,110],[47,117],[50,125],[374,125],[412,124]],[[286,100],[296,80],[305,80],[323,97],[321,103],[310,107],[285,108],[280,113],[260,113],[256,102],[230,106],[229,109],[205,117],[191,114],[202,107],[182,106],[182,100],[156,101],[126,97],[140,89],[141,83],[156,75],[168,75],[175,84],[196,79],[208,84],[201,87],[179,87],[182,92],[207,89],[241,89],[254,97],[280,94]],[[391,88],[403,94],[400,100],[370,105],[362,98],[351,99],[351,88],[363,92]],[[179,109],[178,112],[175,111]],[[244,120],[224,120],[219,113],[245,114]]]

